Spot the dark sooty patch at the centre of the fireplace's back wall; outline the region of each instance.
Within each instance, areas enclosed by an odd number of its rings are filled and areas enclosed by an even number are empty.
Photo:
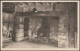
[[[48,18],[47,17],[43,17],[42,21],[41,21],[41,26],[38,29],[38,37],[48,37],[49,36],[49,31],[50,31],[50,23],[48,22]]]

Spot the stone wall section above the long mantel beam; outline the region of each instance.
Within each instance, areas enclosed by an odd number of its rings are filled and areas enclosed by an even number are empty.
[[[27,2],[15,5],[16,12],[27,12],[32,11],[33,8],[36,8],[37,11],[53,11],[53,3],[48,2]]]

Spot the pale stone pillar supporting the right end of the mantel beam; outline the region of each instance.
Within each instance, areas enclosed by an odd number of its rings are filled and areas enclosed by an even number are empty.
[[[59,17],[58,47],[68,47],[68,17]]]

